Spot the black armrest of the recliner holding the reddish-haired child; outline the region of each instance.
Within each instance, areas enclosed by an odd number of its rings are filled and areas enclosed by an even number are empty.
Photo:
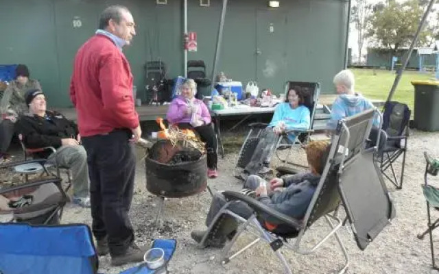
[[[283,223],[285,225],[295,227],[297,230],[303,228],[303,224],[301,221],[298,221],[297,219],[294,219],[286,214],[278,212],[270,208],[269,206],[266,206],[264,203],[261,203],[257,199],[254,199],[248,195],[244,195],[241,192],[224,191],[222,192],[222,195],[224,195],[224,197],[226,197],[228,201],[243,201],[258,214],[261,213],[268,214],[272,216],[274,219],[278,219],[279,223]]]

